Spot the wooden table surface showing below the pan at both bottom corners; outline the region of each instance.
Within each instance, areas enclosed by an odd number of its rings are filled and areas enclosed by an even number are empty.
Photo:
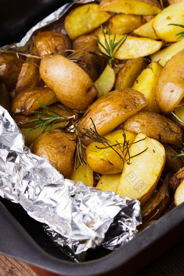
[[[34,270],[36,270],[36,273]],[[29,264],[0,254],[0,276],[48,276],[52,273],[34,270]],[[56,275],[56,274],[55,274]],[[122,272],[123,275],[123,272]],[[183,276],[184,240],[164,253],[161,257],[137,272],[134,276]],[[105,275],[104,275],[105,276]],[[120,275],[121,276],[121,275]],[[126,276],[126,275],[125,275]]]

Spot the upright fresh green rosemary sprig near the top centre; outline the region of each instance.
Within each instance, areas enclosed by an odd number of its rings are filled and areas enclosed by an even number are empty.
[[[114,55],[118,52],[119,48],[121,47],[121,45],[125,42],[127,35],[124,35],[118,42],[115,43],[115,38],[116,38],[116,33],[114,34],[113,39],[110,39],[110,32],[109,29],[107,29],[108,32],[108,41],[106,39],[106,35],[105,32],[103,30],[103,26],[101,25],[101,29],[102,29],[102,33],[104,35],[105,38],[105,46],[103,46],[103,44],[99,41],[99,39],[95,38],[96,41],[98,42],[98,44],[100,44],[103,49],[107,52],[108,56],[103,54],[103,53],[99,53],[99,52],[92,52],[96,55],[102,55],[103,57],[105,57],[106,59],[109,60],[109,65],[112,67],[112,62],[116,64],[116,66],[118,67],[118,63],[115,61],[114,59]],[[118,46],[119,45],[119,46]],[[118,48],[115,50],[115,48],[118,46]],[[115,51],[114,51],[115,50]]]

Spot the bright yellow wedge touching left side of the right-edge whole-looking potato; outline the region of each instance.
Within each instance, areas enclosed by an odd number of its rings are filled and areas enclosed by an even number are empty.
[[[156,61],[152,62],[146,69],[144,69],[136,79],[133,89],[140,91],[148,100],[143,110],[149,110],[159,113],[160,110],[155,102],[155,89],[159,76],[161,75],[163,67]]]

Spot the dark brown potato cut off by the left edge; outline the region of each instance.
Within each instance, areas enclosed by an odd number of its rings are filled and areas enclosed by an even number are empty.
[[[8,91],[15,89],[22,63],[16,54],[0,54],[0,83],[4,83]]]

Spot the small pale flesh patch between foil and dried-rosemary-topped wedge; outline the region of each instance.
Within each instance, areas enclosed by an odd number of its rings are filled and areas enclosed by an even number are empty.
[[[118,186],[121,173],[118,174],[103,174],[98,181],[97,188],[104,192],[114,192]]]

